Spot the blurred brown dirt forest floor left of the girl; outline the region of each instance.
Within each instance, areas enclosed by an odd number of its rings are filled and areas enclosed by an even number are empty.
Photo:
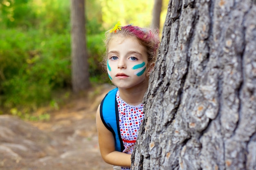
[[[112,170],[101,158],[95,123],[110,89],[103,85],[70,99],[49,121],[0,115],[0,170]]]

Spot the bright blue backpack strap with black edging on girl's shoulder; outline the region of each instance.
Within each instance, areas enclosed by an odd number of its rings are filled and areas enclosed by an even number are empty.
[[[101,101],[100,115],[103,124],[113,133],[113,136],[115,137],[115,149],[122,152],[124,150],[124,145],[121,139],[119,127],[119,113],[116,100],[117,90],[118,88],[115,88],[108,92],[108,94]]]

